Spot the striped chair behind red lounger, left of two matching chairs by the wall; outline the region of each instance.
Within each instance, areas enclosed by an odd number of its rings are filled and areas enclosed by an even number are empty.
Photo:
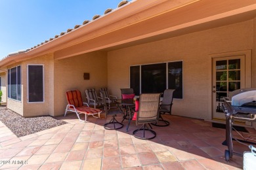
[[[96,107],[102,107],[102,98],[97,96],[96,90],[94,88],[85,90],[87,103]]]

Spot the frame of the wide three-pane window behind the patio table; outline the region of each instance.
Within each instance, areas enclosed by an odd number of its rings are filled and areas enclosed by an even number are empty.
[[[146,64],[137,64],[137,65],[130,65],[129,66],[129,87],[131,88],[131,67],[133,66],[139,66],[140,67],[140,93],[141,93],[141,66],[142,65],[152,65],[152,64],[159,64],[159,63],[165,63],[166,64],[166,89],[168,89],[168,63],[174,63],[182,61],[182,98],[173,98],[175,100],[183,100],[184,99],[184,61],[183,60],[174,60],[174,61],[163,61],[158,63],[146,63]]]

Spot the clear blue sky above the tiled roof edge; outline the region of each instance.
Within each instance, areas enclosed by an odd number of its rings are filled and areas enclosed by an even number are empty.
[[[131,1],[131,0],[129,0]],[[0,0],[0,59],[92,20],[121,0]]]

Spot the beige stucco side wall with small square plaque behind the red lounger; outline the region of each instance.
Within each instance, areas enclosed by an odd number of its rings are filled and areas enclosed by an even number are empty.
[[[90,79],[84,80],[83,73]],[[85,89],[106,87],[108,70],[106,52],[91,52],[54,61],[54,116],[64,114],[67,90],[80,90],[85,101]]]

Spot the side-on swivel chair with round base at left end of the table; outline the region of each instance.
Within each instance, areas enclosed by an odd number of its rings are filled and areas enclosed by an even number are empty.
[[[108,108],[104,92],[100,91],[100,95],[102,96],[106,119],[108,115],[112,115],[112,119],[106,124],[104,124],[104,129],[108,129],[108,130],[121,129],[121,127],[123,127],[123,124],[121,124],[116,120],[116,114],[121,113],[121,111],[117,107]]]

